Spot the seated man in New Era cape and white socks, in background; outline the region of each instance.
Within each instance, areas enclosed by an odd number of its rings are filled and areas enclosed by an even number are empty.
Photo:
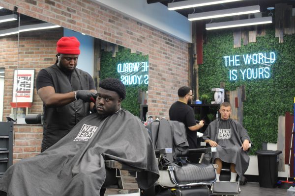
[[[217,181],[222,169],[222,162],[231,163],[231,182],[236,181],[237,174],[241,177],[249,166],[247,150],[250,146],[250,138],[247,130],[238,122],[230,119],[231,104],[223,102],[219,113],[221,119],[210,123],[203,135],[203,140],[210,147],[217,147],[213,152],[213,162],[218,165]]]

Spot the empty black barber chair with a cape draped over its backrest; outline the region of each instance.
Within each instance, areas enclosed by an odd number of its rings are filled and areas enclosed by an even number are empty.
[[[160,177],[155,187],[169,189],[173,196],[209,196],[208,186],[217,179],[216,166],[191,163],[187,157],[208,154],[216,148],[188,149],[185,126],[177,121],[154,121],[147,128],[159,164]]]

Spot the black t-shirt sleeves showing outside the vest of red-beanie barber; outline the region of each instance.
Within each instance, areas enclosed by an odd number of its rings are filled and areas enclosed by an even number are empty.
[[[94,81],[92,79],[92,77],[90,76],[89,73],[87,73],[89,75],[89,89],[90,90],[96,90],[96,87],[94,85]],[[71,75],[69,74],[68,75],[68,78],[70,80],[71,78]],[[53,82],[52,82],[52,78],[51,76],[49,75],[48,72],[46,72],[45,70],[40,70],[40,72],[38,73],[37,75],[37,78],[36,78],[36,90],[38,91],[40,88],[43,88],[45,86],[53,86]]]

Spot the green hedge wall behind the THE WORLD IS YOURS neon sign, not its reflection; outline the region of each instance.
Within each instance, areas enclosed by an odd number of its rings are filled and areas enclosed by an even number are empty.
[[[285,35],[284,43],[274,37],[274,26],[268,26],[266,36],[257,37],[256,43],[234,48],[232,30],[207,31],[204,45],[204,64],[199,65],[199,93],[213,96],[211,88],[225,82],[225,90],[236,90],[245,85],[246,101],[243,102],[243,125],[254,144],[251,153],[262,148],[262,143],[277,143],[278,117],[285,112],[293,114],[295,97],[295,35]],[[270,66],[269,79],[229,80],[224,56],[275,52],[276,61]],[[242,60],[242,59],[240,59]],[[259,65],[241,65],[236,68],[258,68]],[[265,66],[263,66],[265,67]],[[291,130],[290,130],[291,131]]]

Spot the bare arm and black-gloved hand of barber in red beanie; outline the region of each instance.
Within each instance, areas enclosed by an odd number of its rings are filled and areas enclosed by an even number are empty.
[[[38,90],[37,93],[47,107],[64,106],[70,102],[73,102],[74,100],[76,100],[76,98],[81,98],[85,102],[91,102],[91,97],[96,98],[96,90],[78,90],[69,93],[59,94],[55,92],[55,89],[52,86],[42,87]]]

